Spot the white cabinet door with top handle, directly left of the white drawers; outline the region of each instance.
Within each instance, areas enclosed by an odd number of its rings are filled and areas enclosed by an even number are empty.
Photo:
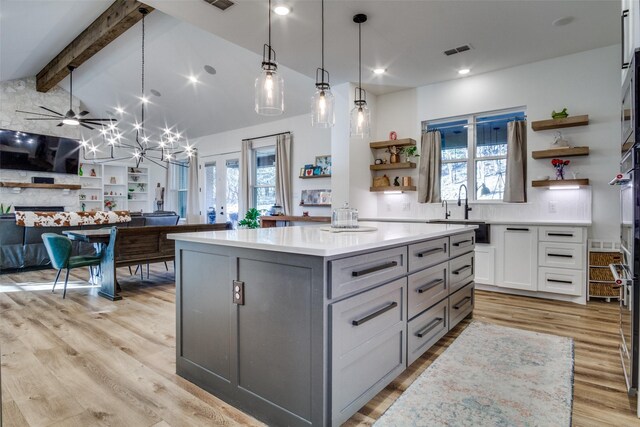
[[[494,227],[498,236],[497,286],[536,291],[538,270],[537,227]]]

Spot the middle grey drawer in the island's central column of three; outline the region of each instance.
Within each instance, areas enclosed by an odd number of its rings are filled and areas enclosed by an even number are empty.
[[[435,267],[409,275],[408,319],[422,313],[449,295],[447,267],[448,263],[443,262]]]

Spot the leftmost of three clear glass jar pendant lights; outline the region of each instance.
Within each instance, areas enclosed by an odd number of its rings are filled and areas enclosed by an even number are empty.
[[[278,74],[276,52],[271,48],[271,0],[269,0],[269,43],[262,48],[262,72],[256,78],[256,113],[279,116],[284,112],[284,80]]]

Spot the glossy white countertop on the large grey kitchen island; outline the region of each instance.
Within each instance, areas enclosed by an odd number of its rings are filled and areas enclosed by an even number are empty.
[[[375,231],[332,233],[326,225],[258,228],[254,230],[172,233],[169,239],[303,255],[334,256],[385,246],[401,245],[470,231],[477,226],[410,222],[360,222]]]

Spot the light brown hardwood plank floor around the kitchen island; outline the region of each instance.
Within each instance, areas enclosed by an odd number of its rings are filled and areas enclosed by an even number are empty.
[[[0,276],[5,426],[262,425],[175,374],[173,272],[119,271],[112,303],[72,271],[62,299],[53,270]],[[78,287],[79,286],[79,287]],[[40,288],[40,290],[38,290]],[[569,303],[477,292],[474,319],[575,340],[575,426],[638,426],[617,353],[616,303]],[[371,425],[468,324],[451,331],[346,425]]]

